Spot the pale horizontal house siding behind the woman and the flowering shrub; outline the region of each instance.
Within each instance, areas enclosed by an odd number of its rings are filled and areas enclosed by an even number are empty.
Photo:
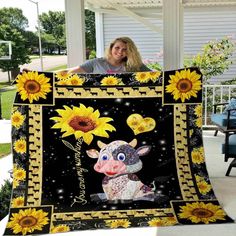
[[[161,9],[157,9],[161,14]],[[153,24],[162,27],[162,20],[150,18]],[[104,14],[104,47],[116,37],[128,36],[136,43],[142,58],[163,63],[159,53],[163,48],[162,32],[153,32],[128,16]],[[229,7],[186,7],[184,9],[184,55],[193,56],[209,40],[224,36],[236,39],[236,6]],[[236,78],[236,53],[234,65],[214,83]]]

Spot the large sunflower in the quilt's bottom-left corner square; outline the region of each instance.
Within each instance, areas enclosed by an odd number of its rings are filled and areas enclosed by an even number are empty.
[[[13,230],[14,234],[33,233],[35,230],[43,230],[44,226],[49,224],[48,213],[42,210],[26,209],[19,213],[12,213],[7,228]]]

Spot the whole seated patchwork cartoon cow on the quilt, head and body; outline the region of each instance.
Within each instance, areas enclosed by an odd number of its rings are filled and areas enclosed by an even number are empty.
[[[100,152],[96,149],[87,150],[91,158],[98,158],[94,165],[95,171],[104,173],[102,181],[106,199],[114,200],[149,200],[153,201],[154,191],[143,184],[134,173],[142,169],[140,156],[147,155],[151,146],[135,149],[137,140],[130,143],[116,140],[109,144],[97,142]]]

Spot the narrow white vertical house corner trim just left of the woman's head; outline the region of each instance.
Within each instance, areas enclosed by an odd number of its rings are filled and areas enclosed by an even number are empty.
[[[103,13],[95,12],[96,26],[96,56],[104,56],[104,31],[103,31]]]

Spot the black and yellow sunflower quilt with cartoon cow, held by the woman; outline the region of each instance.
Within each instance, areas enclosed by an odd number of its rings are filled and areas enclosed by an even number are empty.
[[[197,68],[23,72],[5,235],[231,223],[204,160]]]

